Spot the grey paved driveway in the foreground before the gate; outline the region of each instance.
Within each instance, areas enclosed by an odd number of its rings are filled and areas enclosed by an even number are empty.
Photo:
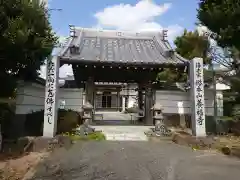
[[[78,142],[40,164],[40,179],[239,180],[240,160],[169,142]]]

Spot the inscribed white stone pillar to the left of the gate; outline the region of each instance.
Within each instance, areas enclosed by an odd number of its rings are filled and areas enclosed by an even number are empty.
[[[47,60],[43,126],[44,137],[54,137],[57,131],[59,66],[60,60],[58,56],[53,56],[52,59]]]

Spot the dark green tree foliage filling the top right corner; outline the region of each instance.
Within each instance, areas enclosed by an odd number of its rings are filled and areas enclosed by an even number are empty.
[[[197,17],[220,46],[240,50],[240,0],[200,0]]]

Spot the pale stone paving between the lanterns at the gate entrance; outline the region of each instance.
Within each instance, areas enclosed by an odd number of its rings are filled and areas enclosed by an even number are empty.
[[[150,126],[94,126],[96,130],[102,130],[109,141],[147,141],[144,132]]]

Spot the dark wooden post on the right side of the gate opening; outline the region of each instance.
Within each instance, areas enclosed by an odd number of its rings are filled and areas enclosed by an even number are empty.
[[[145,103],[144,103],[144,111],[145,111],[145,123],[146,125],[154,125],[153,122],[153,92],[152,86],[150,83],[145,85]]]

